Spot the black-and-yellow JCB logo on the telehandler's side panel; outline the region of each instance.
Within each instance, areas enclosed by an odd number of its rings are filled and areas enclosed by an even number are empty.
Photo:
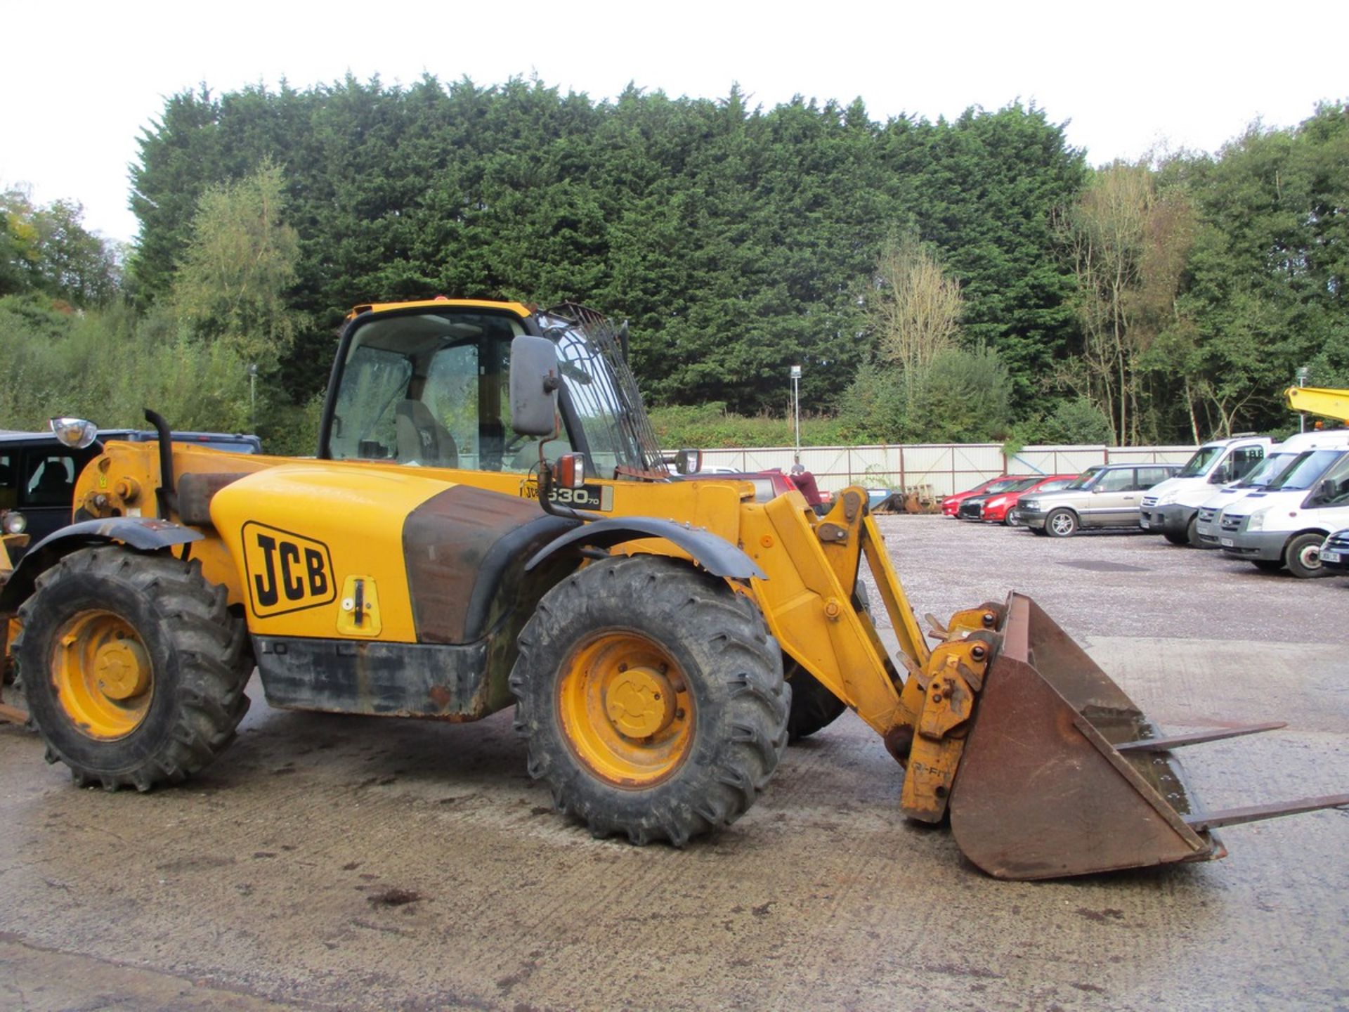
[[[244,573],[259,618],[301,611],[337,599],[333,560],[322,541],[264,524],[244,524]]]

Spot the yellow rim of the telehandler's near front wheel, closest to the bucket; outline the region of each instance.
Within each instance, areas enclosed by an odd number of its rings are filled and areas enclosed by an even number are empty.
[[[563,663],[558,715],[572,752],[619,787],[670,776],[693,743],[693,696],[674,660],[638,633],[603,633]]]

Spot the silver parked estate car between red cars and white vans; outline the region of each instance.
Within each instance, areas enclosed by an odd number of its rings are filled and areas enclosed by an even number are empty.
[[[1017,517],[1036,534],[1071,537],[1082,528],[1136,528],[1143,493],[1179,464],[1099,464],[1052,493],[1021,497]]]

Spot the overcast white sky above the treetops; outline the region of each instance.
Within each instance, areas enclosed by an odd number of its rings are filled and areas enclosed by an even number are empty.
[[[1342,0],[1156,3],[39,3],[0,0],[0,188],[85,205],[135,236],[127,166],[165,96],[351,72],[468,76],[753,104],[861,96],[873,119],[1020,99],[1070,121],[1093,163],[1156,144],[1217,150],[1256,117],[1292,125],[1349,97]]]

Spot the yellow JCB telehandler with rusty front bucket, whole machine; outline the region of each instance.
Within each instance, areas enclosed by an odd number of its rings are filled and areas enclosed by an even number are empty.
[[[1203,812],[1172,750],[1264,727],[1160,733],[1018,594],[929,648],[861,488],[816,515],[680,480],[623,344],[576,305],[363,305],[317,459],[175,445],[148,413],[158,447],[109,443],[0,596],[49,761],[177,783],[229,743],[256,665],[277,707],[514,706],[557,807],[635,843],[734,822],[844,707],[905,766],[902,811],[1006,878],[1222,857],[1217,826],[1349,803]]]

